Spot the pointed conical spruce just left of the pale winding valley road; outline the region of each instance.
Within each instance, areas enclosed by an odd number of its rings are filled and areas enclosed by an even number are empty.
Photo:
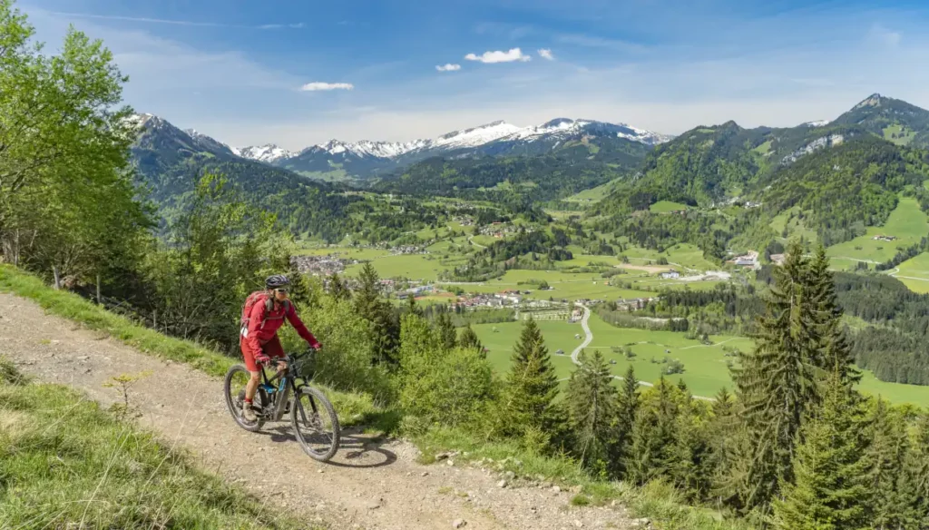
[[[527,429],[545,431],[558,394],[555,367],[539,326],[531,318],[523,326],[506,375],[501,431],[522,435]]]

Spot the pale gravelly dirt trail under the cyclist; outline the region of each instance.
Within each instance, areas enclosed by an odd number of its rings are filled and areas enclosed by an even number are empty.
[[[572,507],[568,492],[501,488],[501,477],[490,470],[420,465],[411,444],[379,442],[355,431],[347,433],[333,462],[315,462],[286,424],[259,433],[239,429],[223,402],[220,379],[145,355],[3,293],[0,354],[25,373],[71,385],[104,405],[118,397],[103,387],[111,377],[150,372],[130,390],[143,426],[187,447],[204,468],[241,483],[269,509],[293,510],[307,521],[382,530],[448,529],[456,520],[464,520],[467,530],[630,527],[622,507]]]

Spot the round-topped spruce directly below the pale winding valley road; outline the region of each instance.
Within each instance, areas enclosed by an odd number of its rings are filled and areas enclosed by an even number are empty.
[[[574,433],[574,452],[588,468],[606,470],[615,456],[617,439],[617,392],[613,377],[599,351],[580,356],[581,365],[568,383],[569,425]]]

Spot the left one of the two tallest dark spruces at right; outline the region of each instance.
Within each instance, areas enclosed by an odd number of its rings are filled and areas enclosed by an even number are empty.
[[[791,481],[797,433],[819,403],[822,324],[814,314],[816,289],[799,243],[789,246],[774,278],[755,350],[742,354],[740,368],[733,370],[747,431],[743,439],[752,441],[739,449],[743,461],[733,467],[737,508],[743,511],[764,506],[779,483]]]

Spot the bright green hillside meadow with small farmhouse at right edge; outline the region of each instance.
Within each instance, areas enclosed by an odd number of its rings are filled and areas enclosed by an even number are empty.
[[[827,249],[833,267],[849,269],[854,259],[886,261],[896,255],[897,247],[919,243],[929,233],[929,222],[919,203],[911,197],[901,197],[883,227],[870,227],[865,235]],[[894,235],[896,241],[874,241],[873,236]],[[852,258],[852,259],[848,259]]]

